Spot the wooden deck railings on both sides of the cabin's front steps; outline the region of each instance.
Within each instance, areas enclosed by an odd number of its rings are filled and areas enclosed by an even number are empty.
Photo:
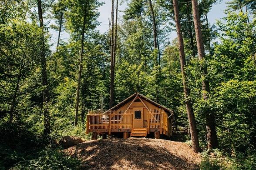
[[[160,134],[168,133],[168,117],[163,109],[148,109],[147,127],[159,129]],[[133,111],[129,110],[94,110],[87,115],[87,133],[90,130],[131,129],[133,127]]]

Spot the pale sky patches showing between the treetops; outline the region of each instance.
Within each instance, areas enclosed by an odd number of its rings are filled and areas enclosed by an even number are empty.
[[[102,5],[98,9],[100,13],[100,16],[98,17],[98,21],[100,22],[100,25],[96,28],[96,30],[99,30],[100,33],[105,33],[106,31],[108,31],[108,28],[109,28],[108,18],[111,17],[111,0],[99,0],[99,1],[104,2],[104,5]],[[226,2],[228,1],[229,0],[222,0],[221,3],[213,4],[211,11],[207,15],[210,25],[216,23],[217,19],[219,20],[226,16],[224,13],[224,10],[226,9]],[[121,5],[119,4],[118,18],[122,17],[123,15],[122,11],[125,10],[126,7],[127,7],[126,3],[122,3]],[[50,33],[52,34],[51,43],[53,44],[51,49],[55,51],[56,45],[57,45],[57,36],[58,36],[57,31],[50,29]],[[69,36],[67,33],[61,34],[61,39],[64,41],[67,41],[68,37]],[[168,38],[169,40],[173,40],[175,37],[177,37],[177,34],[174,31],[169,35]]]

